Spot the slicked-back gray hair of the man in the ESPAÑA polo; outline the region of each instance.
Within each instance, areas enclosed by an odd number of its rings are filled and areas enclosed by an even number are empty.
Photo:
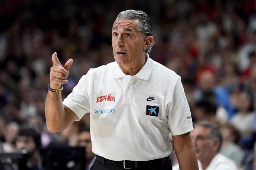
[[[143,39],[147,36],[153,36],[153,23],[150,20],[150,17],[144,12],[139,10],[125,10],[118,14],[116,17],[117,19],[125,19],[125,20],[132,20],[137,19],[139,21],[138,31],[143,33]],[[150,46],[145,50],[145,53],[151,51],[152,46],[154,45],[155,41],[153,40]]]

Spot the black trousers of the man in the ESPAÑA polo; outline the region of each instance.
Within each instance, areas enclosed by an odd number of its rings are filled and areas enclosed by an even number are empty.
[[[170,160],[171,162],[171,160]],[[120,164],[116,164],[116,163],[112,163],[112,162],[105,162],[103,160],[100,159],[95,159],[91,170],[125,170],[124,166],[121,166]],[[170,166],[162,166],[161,164],[159,165],[155,165],[153,167],[139,167],[139,168],[132,168],[129,170],[172,170],[171,164]]]

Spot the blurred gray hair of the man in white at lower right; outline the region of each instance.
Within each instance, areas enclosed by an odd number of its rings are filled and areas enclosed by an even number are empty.
[[[218,125],[212,122],[208,121],[200,121],[197,122],[195,126],[200,125],[203,126],[204,128],[210,129],[210,140],[218,139],[220,141],[220,145],[218,147],[218,152],[220,151],[220,147],[222,144],[222,135],[221,135],[221,130]]]

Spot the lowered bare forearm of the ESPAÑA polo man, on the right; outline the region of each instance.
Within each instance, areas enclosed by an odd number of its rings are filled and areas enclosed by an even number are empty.
[[[190,132],[173,136],[173,145],[180,170],[198,170],[196,149]]]

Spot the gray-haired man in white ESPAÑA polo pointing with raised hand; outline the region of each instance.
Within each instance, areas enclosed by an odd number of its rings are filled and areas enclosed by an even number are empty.
[[[198,169],[191,140],[191,113],[180,76],[153,61],[153,26],[143,11],[126,10],[112,27],[115,62],[90,69],[63,101],[69,59],[62,67],[52,55],[46,123],[65,129],[90,112],[92,170],[171,169],[175,149],[181,169]],[[188,161],[189,160],[189,161]]]

